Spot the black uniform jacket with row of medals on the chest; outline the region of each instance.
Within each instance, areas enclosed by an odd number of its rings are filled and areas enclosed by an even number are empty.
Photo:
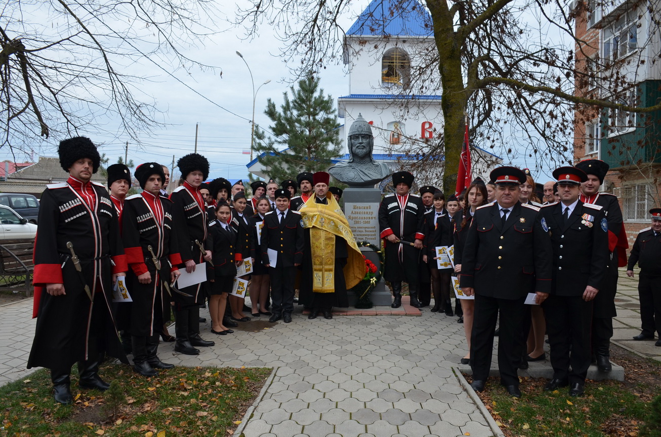
[[[553,294],[582,296],[586,286],[599,288],[608,259],[607,225],[602,207],[578,201],[564,224],[564,204],[542,207],[542,227],[553,244]]]

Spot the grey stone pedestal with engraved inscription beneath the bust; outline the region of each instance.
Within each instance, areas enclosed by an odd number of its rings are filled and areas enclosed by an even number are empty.
[[[356,242],[366,241],[381,247],[379,238],[379,204],[381,190],[378,188],[347,188],[342,193],[344,215],[351,226]],[[379,266],[379,255],[369,248],[360,248],[369,261]],[[349,306],[355,306],[358,296],[348,292]],[[390,306],[393,298],[383,279],[371,291],[374,306]]]

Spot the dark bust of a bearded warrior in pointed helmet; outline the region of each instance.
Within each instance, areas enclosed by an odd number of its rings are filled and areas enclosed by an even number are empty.
[[[372,158],[374,135],[371,126],[358,114],[347,135],[349,160],[340,162],[329,173],[349,187],[373,187],[392,173],[389,166]]]

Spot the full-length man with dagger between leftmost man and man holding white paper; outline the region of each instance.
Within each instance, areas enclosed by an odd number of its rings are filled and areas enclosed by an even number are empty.
[[[130,267],[127,274],[133,298],[131,308],[131,346],[133,370],[142,376],[156,376],[154,369],[173,368],[157,356],[159,334],[163,330],[163,304],[170,304],[169,283],[179,277],[182,264],[178,241],[173,235],[173,203],[161,196],[165,180],[163,167],[147,162],[136,168],[142,193],[124,203],[122,240]]]

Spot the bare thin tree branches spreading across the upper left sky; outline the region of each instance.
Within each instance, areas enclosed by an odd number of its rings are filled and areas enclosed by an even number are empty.
[[[144,65],[214,68],[187,57],[220,17],[212,0],[0,0],[0,147],[81,130],[137,134],[158,124]]]

